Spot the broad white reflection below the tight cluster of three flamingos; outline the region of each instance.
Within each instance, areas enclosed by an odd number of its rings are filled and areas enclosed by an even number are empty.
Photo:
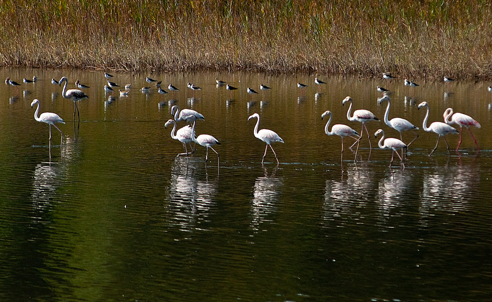
[[[169,187],[169,223],[184,232],[193,232],[199,221],[206,219],[215,206],[217,184],[199,180],[196,175],[197,166],[183,165],[183,159],[175,159],[171,168],[171,184]],[[200,170],[200,169],[199,169]]]

